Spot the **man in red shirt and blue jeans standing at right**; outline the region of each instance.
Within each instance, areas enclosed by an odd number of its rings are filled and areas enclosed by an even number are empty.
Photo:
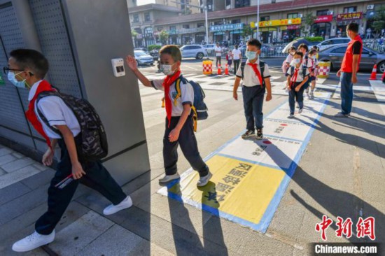
[[[341,77],[341,112],[335,115],[336,118],[347,118],[350,115],[353,103],[353,83],[357,83],[357,71],[363,52],[363,41],[358,35],[358,24],[350,23],[346,27],[346,34],[351,41],[346,48],[341,69],[337,72],[337,76]]]

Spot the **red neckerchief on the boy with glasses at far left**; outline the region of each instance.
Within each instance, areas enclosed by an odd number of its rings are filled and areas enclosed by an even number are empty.
[[[36,131],[38,131],[38,133],[41,134],[41,136],[43,136],[43,138],[45,138],[47,145],[52,150],[50,138],[48,138],[47,134],[45,134],[45,132],[43,130],[43,126],[41,125],[41,122],[38,121],[38,118],[37,118],[36,113],[35,113],[35,102],[36,102],[36,99],[38,97],[38,94],[40,94],[41,92],[46,92],[46,91],[55,91],[55,90],[52,88],[52,86],[47,81],[42,80],[37,87],[37,90],[35,92],[34,97],[31,99],[31,101],[29,101],[28,110],[27,110],[27,112],[25,112],[25,115],[27,116],[27,119],[29,120],[31,125],[36,129]],[[53,152],[53,150],[52,150],[52,152]]]

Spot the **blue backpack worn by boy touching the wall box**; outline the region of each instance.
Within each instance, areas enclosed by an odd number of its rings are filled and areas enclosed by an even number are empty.
[[[174,99],[174,104],[176,104],[176,99],[181,97],[181,81],[183,83],[189,83],[191,86],[193,86],[194,89],[194,103],[191,107],[194,111],[193,119],[194,119],[194,131],[197,131],[197,120],[205,120],[209,117],[209,113],[207,113],[207,106],[204,103],[204,98],[206,97],[206,94],[204,94],[204,91],[199,83],[195,83],[194,81],[189,81],[186,78],[183,78],[181,76],[176,80],[176,97]]]

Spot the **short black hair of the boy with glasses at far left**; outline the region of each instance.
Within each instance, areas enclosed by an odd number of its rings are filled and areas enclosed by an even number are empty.
[[[29,69],[36,78],[43,79],[48,72],[48,60],[41,52],[32,49],[16,49],[10,52],[20,69]]]

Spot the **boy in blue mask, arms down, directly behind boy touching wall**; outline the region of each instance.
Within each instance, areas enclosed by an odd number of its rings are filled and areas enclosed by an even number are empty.
[[[244,99],[244,115],[246,117],[246,132],[242,138],[250,138],[255,136],[255,128],[257,134],[255,138],[263,138],[263,113],[262,106],[267,90],[266,101],[272,99],[272,85],[270,83],[269,66],[262,62],[260,48],[262,44],[257,39],[250,39],[247,43],[246,63],[242,62],[236,73],[233,98],[238,100],[237,90],[242,80],[242,95]]]

